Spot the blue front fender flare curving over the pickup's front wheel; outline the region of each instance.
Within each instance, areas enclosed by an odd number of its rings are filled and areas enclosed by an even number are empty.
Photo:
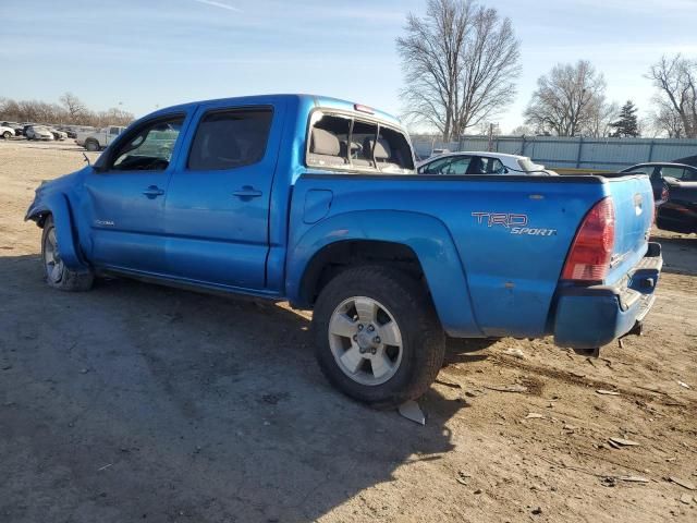
[[[69,269],[86,270],[88,265],[80,256],[77,248],[77,239],[73,227],[73,217],[68,202],[68,197],[60,192],[49,194],[37,193],[36,199],[29,206],[26,220],[39,221],[39,218],[46,215],[53,217],[56,224],[56,240],[58,241],[58,251],[61,259]]]

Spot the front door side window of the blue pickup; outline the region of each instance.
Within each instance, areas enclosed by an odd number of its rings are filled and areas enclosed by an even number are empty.
[[[136,129],[111,155],[108,170],[163,171],[170,165],[184,115],[158,119]]]

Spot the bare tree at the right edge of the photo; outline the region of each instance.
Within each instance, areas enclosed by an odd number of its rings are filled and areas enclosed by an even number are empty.
[[[684,136],[697,138],[697,61],[682,54],[663,56],[651,65],[648,78],[659,90],[658,114],[663,117],[663,124],[668,123],[674,132],[674,121],[680,119]],[[665,131],[671,133],[669,129]]]

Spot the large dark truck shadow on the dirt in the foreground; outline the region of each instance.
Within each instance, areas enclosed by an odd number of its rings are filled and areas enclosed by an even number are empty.
[[[0,258],[2,521],[313,521],[450,451],[334,391],[286,308],[126,280],[46,287]],[[451,357],[474,357],[450,351]]]

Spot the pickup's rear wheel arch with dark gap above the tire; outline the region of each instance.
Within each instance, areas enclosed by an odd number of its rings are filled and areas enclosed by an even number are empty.
[[[448,228],[437,218],[408,211],[352,211],[305,230],[289,248],[286,294],[291,302],[311,307],[327,265],[337,259],[345,267],[357,265],[352,262],[387,262],[423,275],[445,331],[454,337],[484,336],[460,255]]]

